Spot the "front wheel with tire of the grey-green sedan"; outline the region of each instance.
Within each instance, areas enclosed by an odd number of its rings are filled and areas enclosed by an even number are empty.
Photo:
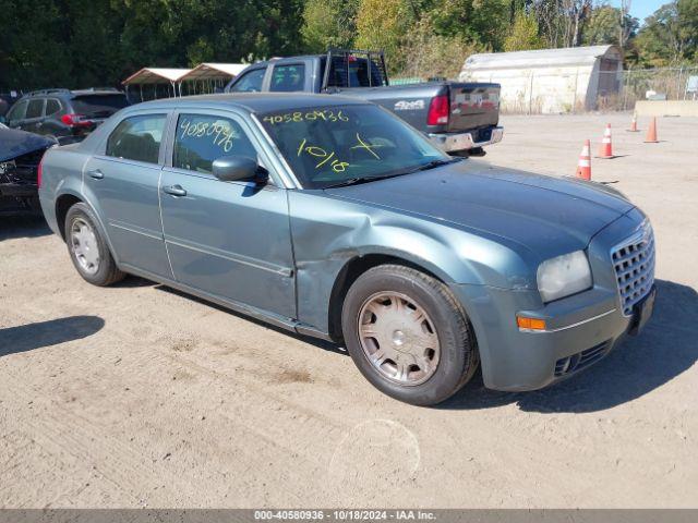
[[[445,284],[409,267],[382,265],[360,276],[345,299],[341,324],[359,370],[406,403],[440,403],[478,368],[462,307]]]

